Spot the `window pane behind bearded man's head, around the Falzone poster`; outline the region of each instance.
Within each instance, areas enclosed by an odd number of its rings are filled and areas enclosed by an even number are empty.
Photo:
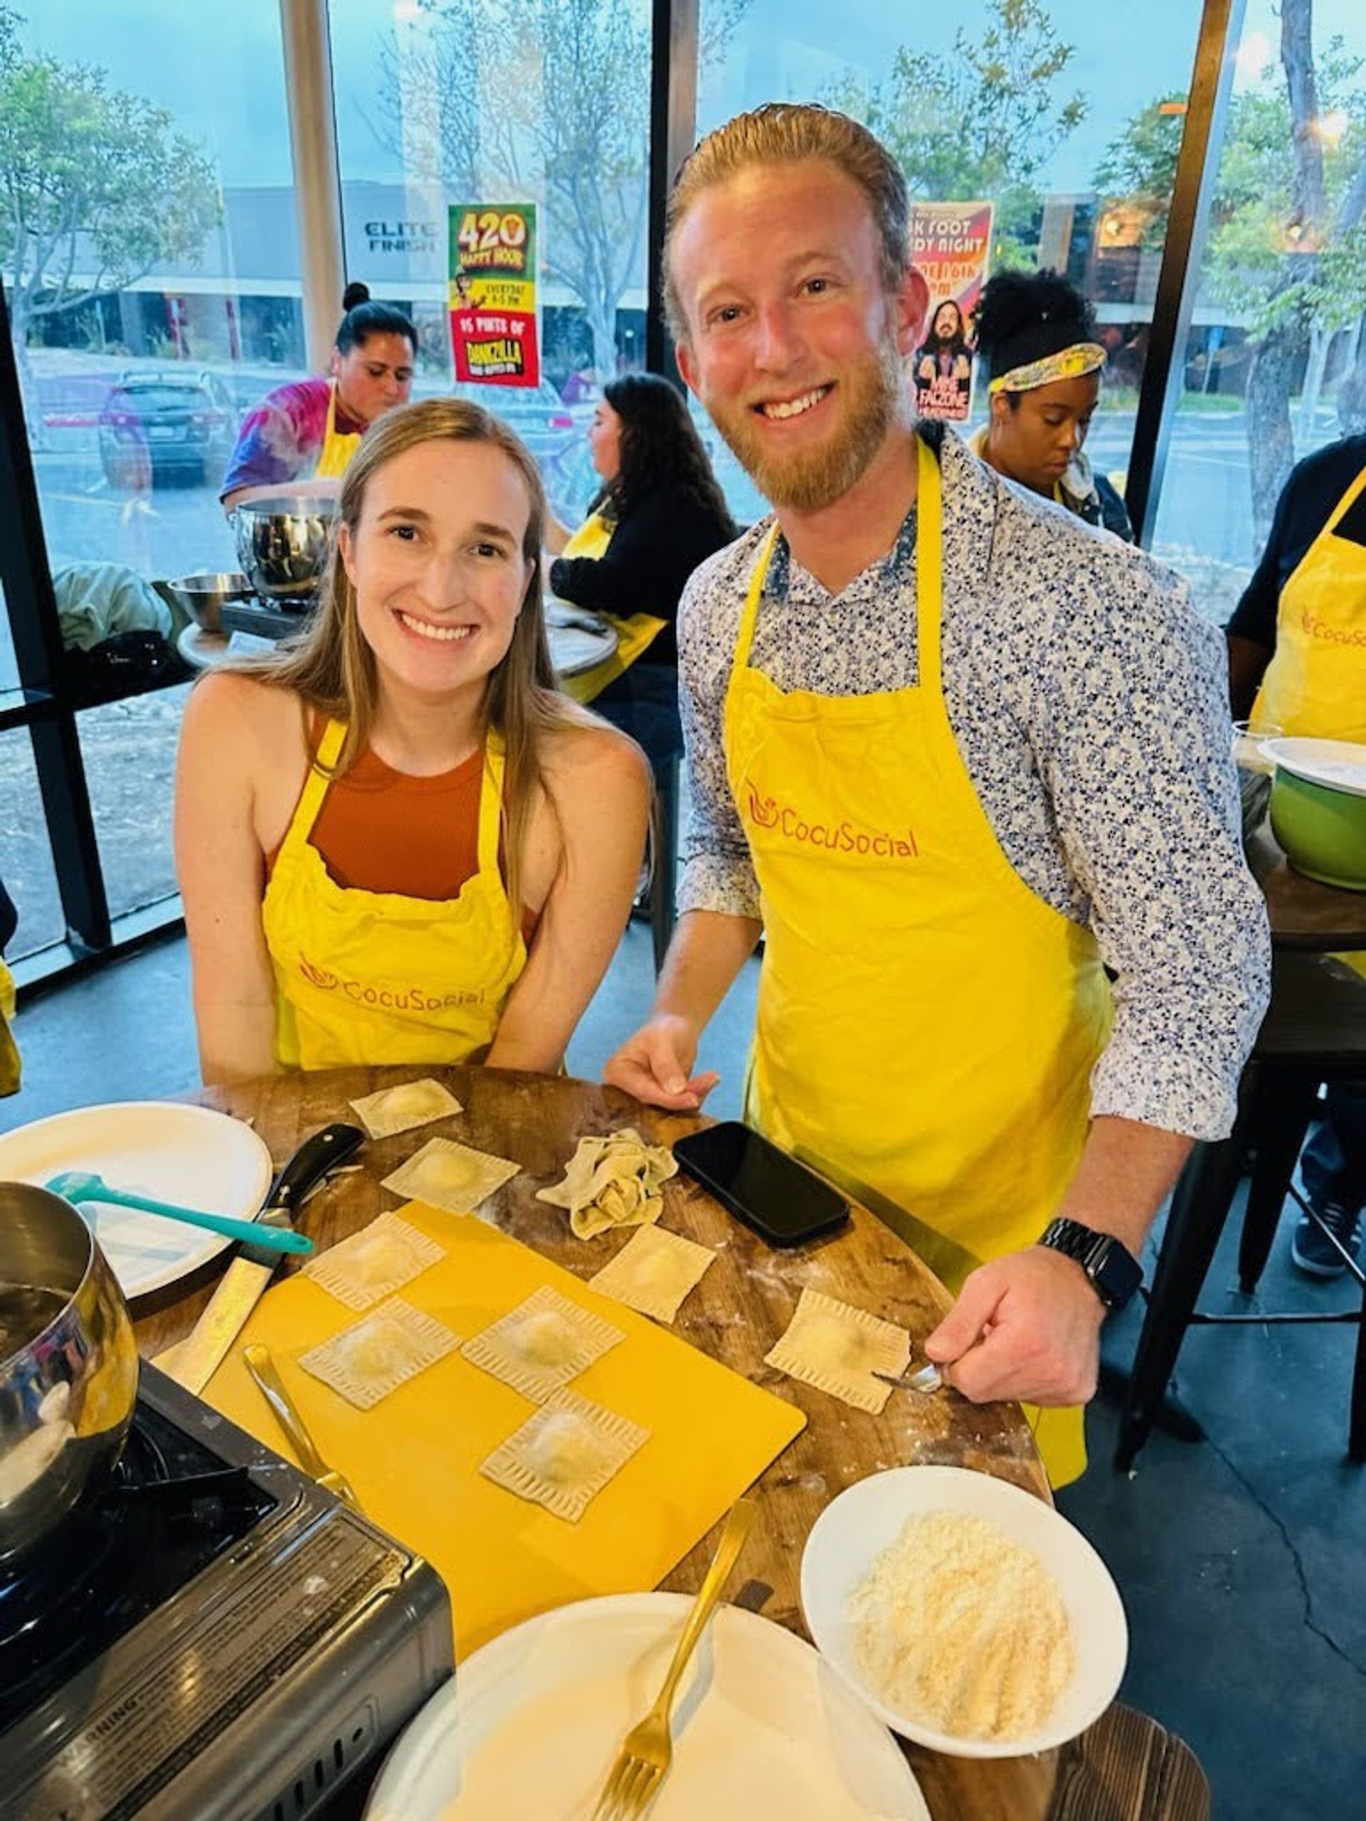
[[[991,202],[989,270],[1055,268],[1095,302],[1109,362],[1087,453],[1122,484],[1198,24],[1200,0],[1153,0],[1140,33],[1093,0],[752,0],[739,13],[701,0],[698,124],[774,98],[831,102],[894,151],[912,200]],[[1115,208],[1127,188],[1111,146],[1149,115],[1151,184],[1142,208]],[[960,428],[984,419],[978,384]],[[719,468],[752,519],[754,488],[730,457]]]

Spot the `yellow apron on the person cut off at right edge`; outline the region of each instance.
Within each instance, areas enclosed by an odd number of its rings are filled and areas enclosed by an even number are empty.
[[[1366,741],[1366,546],[1335,535],[1362,490],[1366,468],[1280,590],[1277,648],[1253,703],[1253,730]]]

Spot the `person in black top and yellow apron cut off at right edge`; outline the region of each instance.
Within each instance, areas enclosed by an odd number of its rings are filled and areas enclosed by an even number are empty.
[[[1344,437],[1291,470],[1226,636],[1235,719],[1366,741],[1366,437]],[[1330,1083],[1300,1175],[1310,1206],[1355,1256],[1366,1207],[1366,1080]],[[1295,1226],[1291,1260],[1315,1278],[1346,1269],[1308,1216]]]

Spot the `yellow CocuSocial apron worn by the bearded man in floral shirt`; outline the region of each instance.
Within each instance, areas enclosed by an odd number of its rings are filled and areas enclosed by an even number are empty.
[[[1095,938],[1005,860],[940,685],[942,481],[920,444],[920,685],[785,694],[749,654],[725,752],[765,956],[747,1113],[880,1213],[949,1282],[1029,1246],[1087,1134],[1109,1034]],[[1029,1411],[1049,1479],[1086,1468],[1080,1409]]]

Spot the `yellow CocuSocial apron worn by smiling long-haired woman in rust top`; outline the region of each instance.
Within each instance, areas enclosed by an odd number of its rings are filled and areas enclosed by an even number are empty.
[[[488,736],[479,792],[479,870],[433,903],[337,885],[310,834],[346,728],[330,721],[260,907],[275,972],[275,1060],[481,1062],[526,965],[521,918],[499,870],[503,743]]]

